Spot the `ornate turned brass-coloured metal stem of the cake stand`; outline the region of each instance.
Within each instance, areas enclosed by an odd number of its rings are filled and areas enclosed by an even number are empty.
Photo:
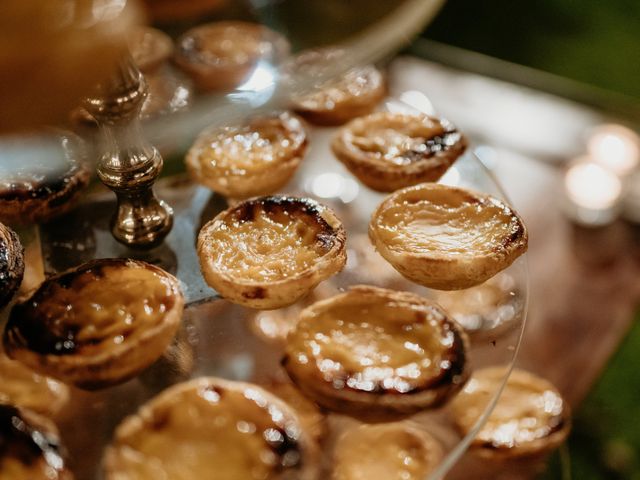
[[[139,116],[146,95],[147,84],[127,55],[84,102],[102,132],[98,178],[118,198],[111,233],[129,247],[145,249],[160,244],[173,226],[173,210],[153,193],[162,157],[142,136]]]

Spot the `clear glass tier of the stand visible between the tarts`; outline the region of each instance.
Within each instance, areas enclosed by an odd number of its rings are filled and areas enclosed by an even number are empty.
[[[41,228],[48,273],[92,258],[134,256],[175,274],[183,284],[188,303],[180,334],[165,358],[124,385],[93,393],[74,391],[72,404],[64,410],[59,424],[78,478],[96,478],[103,449],[111,440],[115,426],[173,383],[203,375],[258,384],[286,379],[280,367],[282,341],[277,338],[278,332],[291,327],[302,306],[350,285],[373,284],[435,298],[457,312],[472,332],[472,368],[513,364],[528,298],[526,258],[520,258],[488,282],[492,290],[502,291],[504,299],[497,304],[489,300],[489,308],[483,305],[487,296],[483,286],[463,292],[436,292],[407,281],[375,252],[368,240],[370,215],[383,196],[359,184],[333,158],[328,140],[334,131],[332,128],[312,130],[310,153],[284,192],[316,198],[335,210],[348,232],[348,263],[343,272],[321,283],[311,298],[286,309],[260,312],[243,308],[219,298],[204,283],[195,250],[196,236],[205,222],[226,208],[226,201],[194,185],[184,174],[165,177],[157,185],[158,194],[175,210],[175,226],[165,244],[151,252],[135,253],[112,238],[109,218],[114,201],[106,192],[93,193],[75,212]],[[504,197],[471,153],[459,159],[442,182]],[[500,389],[492,392],[478,428],[499,392]],[[460,436],[448,417],[446,406],[425,411],[412,421],[434,435],[447,452],[438,470],[429,477],[433,479],[441,478],[455,464],[475,433],[474,430],[466,437]],[[329,449],[336,436],[355,421],[329,414],[328,422]],[[328,449],[326,451],[330,451]],[[325,456],[329,458],[330,455]],[[327,471],[330,468],[325,467]]]

